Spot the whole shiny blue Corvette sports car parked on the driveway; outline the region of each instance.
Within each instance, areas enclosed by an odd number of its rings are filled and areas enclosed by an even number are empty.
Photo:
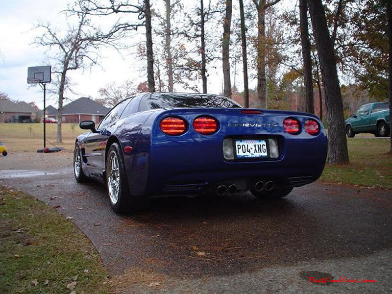
[[[116,213],[165,195],[250,192],[287,196],[317,180],[327,137],[308,113],[245,109],[217,95],[144,93],[117,104],[77,137],[75,179],[107,185]]]

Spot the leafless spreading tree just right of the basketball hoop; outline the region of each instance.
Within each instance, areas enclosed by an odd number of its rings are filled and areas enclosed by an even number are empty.
[[[79,12],[77,25],[68,25],[67,31],[60,31],[50,24],[39,23],[36,28],[42,35],[35,38],[34,44],[54,49],[53,72],[57,73],[54,83],[58,94],[57,142],[62,142],[61,121],[64,90],[69,84],[69,71],[92,67],[98,63],[99,48],[102,45],[116,46],[122,38],[123,26],[112,27],[106,33],[94,27],[86,11]]]

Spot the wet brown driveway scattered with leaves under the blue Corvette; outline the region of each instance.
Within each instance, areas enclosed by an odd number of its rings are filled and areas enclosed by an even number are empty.
[[[104,186],[75,182],[71,153],[10,155],[0,158],[0,184],[79,227],[118,293],[392,293],[392,191],[316,182],[274,202],[162,198],[118,216]]]

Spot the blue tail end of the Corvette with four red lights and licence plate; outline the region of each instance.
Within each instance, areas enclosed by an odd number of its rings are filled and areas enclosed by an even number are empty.
[[[182,108],[150,119],[146,195],[299,187],[325,165],[327,137],[311,114]]]

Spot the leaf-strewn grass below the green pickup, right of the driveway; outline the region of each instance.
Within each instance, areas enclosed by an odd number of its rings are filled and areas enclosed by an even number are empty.
[[[390,140],[348,138],[347,144],[350,164],[327,164],[321,180],[392,189]]]

